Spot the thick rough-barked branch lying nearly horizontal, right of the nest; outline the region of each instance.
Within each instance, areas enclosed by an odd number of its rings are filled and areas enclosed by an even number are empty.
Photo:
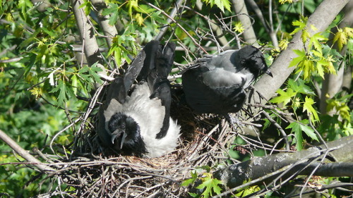
[[[258,180],[261,183],[268,183],[273,180],[284,181],[294,175],[310,175],[316,168],[313,175],[353,176],[353,136],[328,142],[327,146],[328,148],[322,144],[294,153],[253,157],[249,161],[227,166],[215,172],[214,175],[231,188],[245,181]],[[321,161],[325,154],[330,157]]]

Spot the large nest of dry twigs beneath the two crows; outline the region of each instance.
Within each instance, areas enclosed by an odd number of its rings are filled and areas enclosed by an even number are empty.
[[[56,156],[46,156],[56,170],[47,178],[60,185],[38,197],[187,197],[181,183],[196,167],[232,161],[228,152],[238,133],[220,116],[194,114],[179,98],[174,95],[172,103],[172,117],[181,125],[176,151],[153,159],[121,156],[100,145],[95,119],[86,119],[72,144],[54,145]]]

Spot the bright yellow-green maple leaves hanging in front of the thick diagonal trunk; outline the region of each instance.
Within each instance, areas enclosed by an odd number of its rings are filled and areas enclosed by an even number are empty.
[[[321,121],[324,116],[318,113],[316,101],[317,95],[313,92],[314,81],[322,82],[325,78],[325,73],[336,74],[341,61],[345,61],[343,56],[339,54],[335,49],[328,46],[328,38],[323,36],[327,35],[323,32],[311,35],[309,29],[315,30],[316,27],[311,25],[307,27],[308,18],[301,16],[300,20],[293,22],[295,29],[290,33],[294,35],[295,33],[301,31],[301,39],[304,43],[304,48],[302,50],[294,50],[297,57],[293,58],[289,67],[296,67],[297,71],[294,78],[289,78],[287,81],[287,86],[285,89],[278,89],[278,96],[271,99],[270,101],[276,104],[283,105],[284,109],[288,107],[293,109],[296,115],[297,121],[290,123],[287,129],[292,129],[294,132],[294,142],[297,149],[302,149],[304,144],[304,138],[301,132],[304,132],[312,140],[318,140],[317,136],[313,132],[313,128],[309,126],[309,122],[323,123]],[[339,50],[342,49],[342,44],[347,44],[347,38],[351,33],[349,29],[345,31],[338,28],[337,33],[334,36],[333,44],[337,42]],[[287,42],[282,43],[282,49],[287,47]],[[347,52],[347,56],[350,56],[350,51]],[[301,78],[303,80],[301,80]],[[347,99],[352,97],[351,95],[346,95],[341,99],[328,99],[328,111],[335,109],[341,118],[347,120],[345,124],[341,125],[340,128],[345,128],[344,125],[351,125],[350,120],[350,109],[347,106]],[[302,109],[302,112],[306,113],[308,119],[299,119],[298,109]],[[335,117],[333,117],[335,118]],[[335,126],[337,128],[337,125]],[[323,132],[323,131],[319,131]],[[349,133],[347,134],[349,135]],[[332,135],[329,135],[329,137]],[[334,135],[335,136],[335,135]]]

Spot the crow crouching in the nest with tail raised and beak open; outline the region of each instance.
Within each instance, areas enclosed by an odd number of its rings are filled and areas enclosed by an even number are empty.
[[[105,147],[124,155],[157,157],[177,147],[180,126],[170,118],[172,101],[167,76],[175,44],[145,45],[124,78],[116,78],[100,107],[98,135]],[[138,83],[133,84],[135,80]]]

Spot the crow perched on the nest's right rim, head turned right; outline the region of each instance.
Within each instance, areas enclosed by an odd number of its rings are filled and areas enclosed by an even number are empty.
[[[244,89],[263,73],[272,76],[253,46],[207,55],[182,74],[186,102],[197,113],[236,113],[246,100]]]

